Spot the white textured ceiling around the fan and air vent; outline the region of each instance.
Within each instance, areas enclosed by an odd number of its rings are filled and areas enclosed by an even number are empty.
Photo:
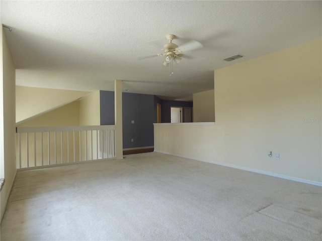
[[[213,89],[213,70],[321,37],[321,1],[1,1],[1,22],[16,65],[17,85],[123,90],[191,99]],[[194,39],[170,68],[162,53]],[[155,40],[155,41],[152,41]],[[225,62],[235,55],[244,58]]]

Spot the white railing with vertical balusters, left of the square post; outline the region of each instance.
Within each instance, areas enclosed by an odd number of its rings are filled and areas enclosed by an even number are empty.
[[[17,169],[115,158],[115,126],[17,128]]]

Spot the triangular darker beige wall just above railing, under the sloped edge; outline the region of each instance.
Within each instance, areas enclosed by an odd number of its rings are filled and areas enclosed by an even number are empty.
[[[79,126],[79,101],[73,101],[50,112],[30,119],[17,127]]]

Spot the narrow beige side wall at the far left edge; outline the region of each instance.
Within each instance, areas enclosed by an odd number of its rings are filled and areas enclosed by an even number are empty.
[[[2,25],[0,24],[0,26]],[[0,173],[1,178],[6,179],[5,185],[0,194],[2,219],[17,170],[15,162],[15,66],[3,28],[0,33],[0,93],[1,96],[3,96],[0,100]]]

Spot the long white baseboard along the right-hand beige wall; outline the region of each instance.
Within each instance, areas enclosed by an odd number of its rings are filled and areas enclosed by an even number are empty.
[[[291,181],[295,181],[295,182],[302,182],[302,183],[307,183],[307,184],[322,187],[322,182],[315,182],[315,181],[310,181],[310,180],[301,179],[301,178],[297,178],[297,177],[285,176],[285,175],[278,174],[278,173],[266,172],[266,171],[262,171],[262,170],[257,170],[257,169],[253,169],[253,168],[242,167],[242,166],[236,166],[236,165],[222,163],[222,162],[214,162],[214,161],[210,161],[210,160],[204,160],[204,159],[200,159],[200,158],[194,158],[194,157],[189,157],[189,156],[185,156],[185,155],[159,151],[159,150],[155,150],[155,149],[154,149],[154,152],[164,153],[164,154],[177,156],[177,157],[188,158],[188,159],[201,161],[201,162],[208,162],[208,163],[212,163],[212,164],[216,164],[216,165],[220,165],[220,166],[224,166],[224,167],[236,168],[236,169],[240,169],[240,170],[244,170],[244,171],[255,172],[255,173],[264,174],[267,176],[278,177],[278,178],[283,178],[283,179],[287,179],[287,180],[291,180]]]

